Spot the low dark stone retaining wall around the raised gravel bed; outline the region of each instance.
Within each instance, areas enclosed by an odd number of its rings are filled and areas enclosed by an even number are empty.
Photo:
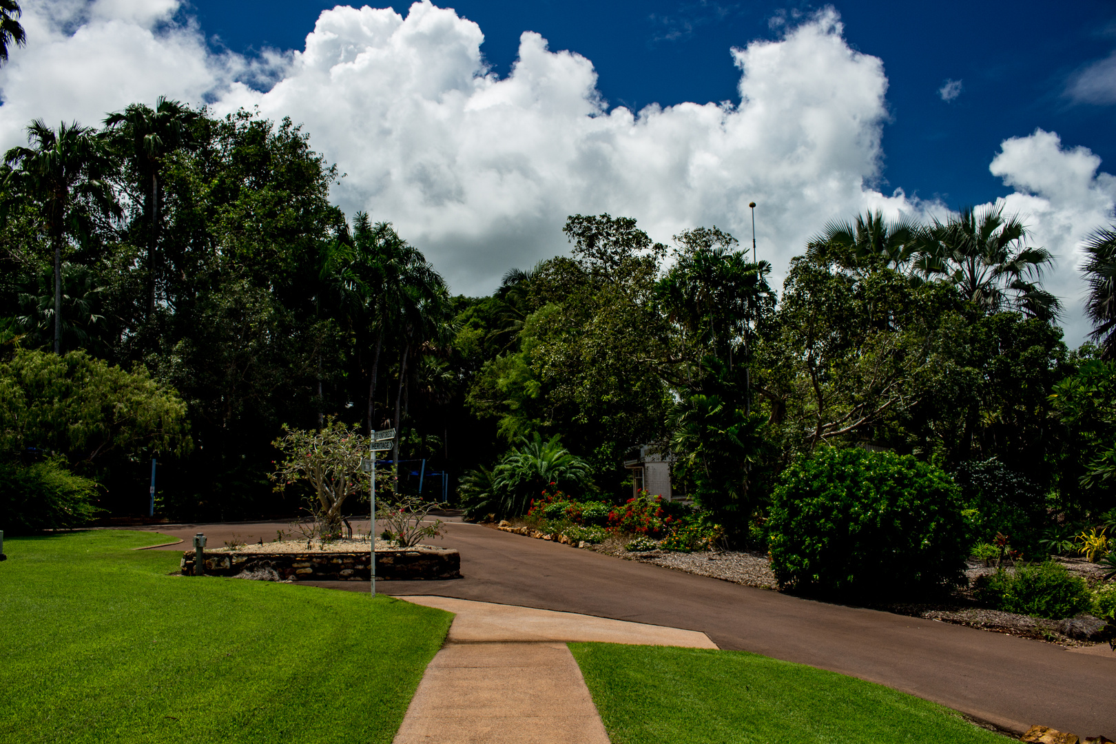
[[[271,569],[292,581],[368,581],[368,551],[235,553],[203,551],[206,576]],[[182,552],[182,574],[194,576],[194,551]],[[461,553],[437,548],[376,551],[376,580],[460,579]]]

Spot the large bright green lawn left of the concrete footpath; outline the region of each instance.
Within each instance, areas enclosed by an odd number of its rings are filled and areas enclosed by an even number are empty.
[[[164,535],[4,541],[0,742],[391,742],[452,616],[167,576]]]

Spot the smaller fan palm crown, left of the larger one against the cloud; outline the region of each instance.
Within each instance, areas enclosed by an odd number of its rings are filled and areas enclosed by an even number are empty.
[[[879,210],[856,215],[855,222],[830,220],[806,244],[815,261],[836,261],[847,269],[884,265],[905,271],[915,254],[922,225],[907,218],[892,222]]]

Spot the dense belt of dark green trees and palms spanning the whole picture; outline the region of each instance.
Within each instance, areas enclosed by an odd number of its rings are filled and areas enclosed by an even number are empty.
[[[833,221],[781,288],[715,226],[666,245],[631,218],[574,214],[568,254],[469,298],[391,223],[333,204],[340,174],[289,120],[160,98],[100,129],[32,122],[0,176],[3,462],[46,456],[114,515],[145,511],[152,457],[161,515],[292,514],[305,493],[269,482],[283,427],[340,425],[352,442],[396,429],[379,463],[395,494],[500,519],[561,490],[564,516],[531,519],[596,539],[612,514],[672,549],[763,549],[764,520],[790,529],[796,499],[840,487],[875,484],[885,511],[921,496],[884,482],[945,489],[913,528],[941,528],[941,555],[879,539],[929,583],[951,577],[945,553],[998,535],[1067,552],[1116,508],[1112,230],[1085,247],[1097,346],[1071,351],[1041,286],[1054,257],[999,207]],[[671,501],[636,497],[636,450],[693,514],[664,526]],[[790,497],[811,454],[865,450],[903,458],[864,455],[833,483],[822,468]],[[314,492],[334,526],[357,509]],[[788,582],[857,583],[878,560],[827,529],[801,549],[844,545],[853,564],[786,563]]]

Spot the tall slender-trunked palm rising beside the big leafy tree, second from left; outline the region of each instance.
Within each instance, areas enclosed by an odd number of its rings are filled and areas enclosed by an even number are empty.
[[[191,142],[190,124],[198,118],[176,100],[160,96],[155,108],[132,104],[123,112],[105,117],[105,127],[115,135],[116,146],[126,153],[138,172],[140,182],[151,184],[144,194],[147,221],[147,318],[155,312],[155,284],[158,279],[158,177],[166,156]]]

